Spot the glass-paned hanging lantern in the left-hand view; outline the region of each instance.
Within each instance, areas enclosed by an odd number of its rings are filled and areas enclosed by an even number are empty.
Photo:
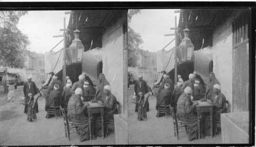
[[[72,44],[69,47],[72,63],[82,63],[82,54],[83,54],[84,46],[82,45],[82,42],[79,39],[79,35],[80,35],[80,31],[75,30],[74,31],[75,39],[72,41]]]

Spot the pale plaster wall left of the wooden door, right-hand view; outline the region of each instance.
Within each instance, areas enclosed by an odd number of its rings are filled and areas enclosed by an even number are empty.
[[[240,13],[241,11],[232,13],[215,28],[212,37],[213,70],[221,84],[221,92],[229,102],[228,112],[232,110],[232,22]]]

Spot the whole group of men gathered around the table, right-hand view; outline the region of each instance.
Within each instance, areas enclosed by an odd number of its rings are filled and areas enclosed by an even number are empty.
[[[157,105],[166,105],[174,107],[177,111],[177,119],[182,121],[188,128],[188,140],[198,138],[198,116],[196,111],[197,100],[207,101],[214,105],[213,107],[213,130],[214,135],[218,133],[217,123],[220,122],[220,114],[226,112],[226,98],[221,93],[221,86],[215,74],[211,72],[209,79],[205,84],[201,76],[195,71],[189,74],[189,80],[183,82],[181,76],[178,76],[179,81],[174,86],[173,81],[164,75],[163,81],[160,84],[157,94]],[[166,100],[163,100],[165,95],[172,95]],[[200,119],[201,138],[205,135],[210,135],[210,116],[209,113],[203,113]]]

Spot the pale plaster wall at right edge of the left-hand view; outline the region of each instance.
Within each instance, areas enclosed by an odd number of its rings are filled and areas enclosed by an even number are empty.
[[[117,19],[113,25],[106,27],[102,36],[102,72],[111,85],[111,93],[120,103],[118,113],[127,113],[127,59],[124,62],[124,53],[127,52],[124,51],[124,20],[125,17]]]

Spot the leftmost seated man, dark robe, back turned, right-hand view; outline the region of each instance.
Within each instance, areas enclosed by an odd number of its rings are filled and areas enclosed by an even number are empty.
[[[168,83],[164,84],[164,89],[161,90],[159,97],[157,98],[157,104],[156,104],[156,109],[158,109],[158,107],[160,105],[165,105],[168,106],[170,104],[170,100],[171,100],[171,95],[172,95],[172,91],[169,90],[170,85]],[[170,95],[167,99],[164,100],[164,96],[165,95]],[[161,113],[161,115],[159,116],[163,116],[164,114]]]

